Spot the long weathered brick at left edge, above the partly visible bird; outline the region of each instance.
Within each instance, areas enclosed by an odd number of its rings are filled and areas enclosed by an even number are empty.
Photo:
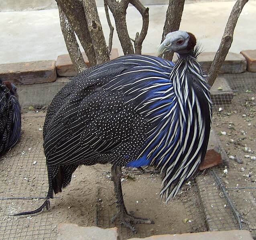
[[[0,64],[0,78],[16,85],[53,82],[57,78],[55,60]]]

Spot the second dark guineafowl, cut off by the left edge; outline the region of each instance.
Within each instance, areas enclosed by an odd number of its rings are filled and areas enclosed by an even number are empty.
[[[17,88],[0,80],[0,155],[20,139],[20,104]]]

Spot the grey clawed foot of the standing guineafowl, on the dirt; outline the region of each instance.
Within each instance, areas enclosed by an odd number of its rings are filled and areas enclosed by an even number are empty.
[[[123,224],[126,228],[129,228],[135,234],[137,233],[137,230],[132,224],[154,224],[154,221],[150,218],[135,217],[132,214],[128,214],[127,212],[118,211],[112,218],[112,222],[116,221],[117,218],[120,218],[120,224]]]

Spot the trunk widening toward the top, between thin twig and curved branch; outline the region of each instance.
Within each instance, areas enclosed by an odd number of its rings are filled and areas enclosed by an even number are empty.
[[[126,25],[126,10],[128,8],[129,0],[122,0],[121,2],[117,2],[116,0],[107,0],[107,3],[115,19],[116,32],[124,55],[134,54],[134,49],[132,47],[132,42],[130,41]]]

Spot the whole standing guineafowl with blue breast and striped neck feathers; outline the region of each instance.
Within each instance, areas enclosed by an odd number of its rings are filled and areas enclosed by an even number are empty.
[[[43,128],[49,198],[61,192],[81,165],[111,163],[121,224],[153,223],[126,211],[122,166],[155,166],[163,173],[161,195],[174,197],[205,156],[211,100],[195,36],[167,34],[157,55],[177,52],[173,63],[154,56],[122,56],[77,74],[53,99]]]

